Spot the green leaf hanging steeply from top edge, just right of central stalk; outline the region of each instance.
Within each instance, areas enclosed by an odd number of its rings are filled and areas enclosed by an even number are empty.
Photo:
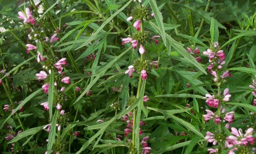
[[[165,31],[164,31],[164,24],[163,24],[163,17],[157,7],[157,3],[155,0],[148,0],[148,2],[150,3],[151,9],[153,11],[153,13],[155,14],[155,19],[159,28],[159,32],[160,35],[163,39],[163,43],[166,46],[166,38],[165,38]]]

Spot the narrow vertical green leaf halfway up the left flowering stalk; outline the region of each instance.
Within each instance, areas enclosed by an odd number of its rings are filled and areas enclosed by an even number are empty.
[[[51,72],[50,82],[49,82],[49,92],[48,92],[48,103],[49,103],[49,116],[52,118],[52,107],[53,107],[53,97],[54,97],[54,72]]]

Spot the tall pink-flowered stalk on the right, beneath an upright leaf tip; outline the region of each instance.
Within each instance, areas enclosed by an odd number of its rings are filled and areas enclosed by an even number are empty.
[[[214,114],[214,112],[210,110],[206,110],[207,114],[204,115],[205,121],[208,121],[209,119],[214,119],[215,123],[218,125],[218,132],[220,135],[219,139],[219,145],[221,147],[221,151],[224,150],[224,137],[221,135],[222,134],[222,128],[221,124],[225,121],[229,121],[232,123],[233,120],[233,112],[229,112],[226,114],[224,119],[221,119],[223,117],[222,114],[225,113],[225,109],[221,109],[226,101],[229,101],[229,98],[231,95],[229,94],[229,89],[226,88],[223,92],[221,93],[221,85],[222,83],[225,82],[225,78],[227,76],[231,76],[231,74],[228,72],[228,70],[223,70],[222,66],[225,64],[225,54],[223,50],[219,49],[219,43],[215,42],[214,45],[211,46],[211,48],[207,49],[205,52],[203,52],[204,55],[208,56],[209,58],[209,65],[207,67],[208,72],[214,77],[214,82],[216,83],[218,87],[218,93],[217,95],[211,95],[211,94],[206,94],[206,104],[209,107],[216,108],[217,109],[217,114]],[[210,132],[208,132],[210,134]],[[212,134],[212,133],[211,133]],[[208,142],[211,142],[213,139],[209,139],[209,135],[206,134],[206,137]],[[214,145],[216,145],[217,141],[215,142]],[[211,150],[212,152],[212,150]]]

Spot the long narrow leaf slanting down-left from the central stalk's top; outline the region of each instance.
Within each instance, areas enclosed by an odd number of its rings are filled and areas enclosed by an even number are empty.
[[[111,20],[113,20],[113,18],[118,15],[120,12],[122,12],[123,9],[125,9],[130,3],[132,2],[132,0],[130,0],[129,2],[127,2],[121,9],[119,9],[117,12],[115,12],[112,16],[110,16],[108,19],[106,19],[99,27],[99,29],[94,32],[94,34],[86,40],[86,42],[84,42],[82,45],[80,45],[79,47],[77,47],[75,50],[86,46],[87,44],[89,44],[92,40],[94,40],[94,38],[99,34],[99,32],[105,27],[106,24],[108,24]]]

